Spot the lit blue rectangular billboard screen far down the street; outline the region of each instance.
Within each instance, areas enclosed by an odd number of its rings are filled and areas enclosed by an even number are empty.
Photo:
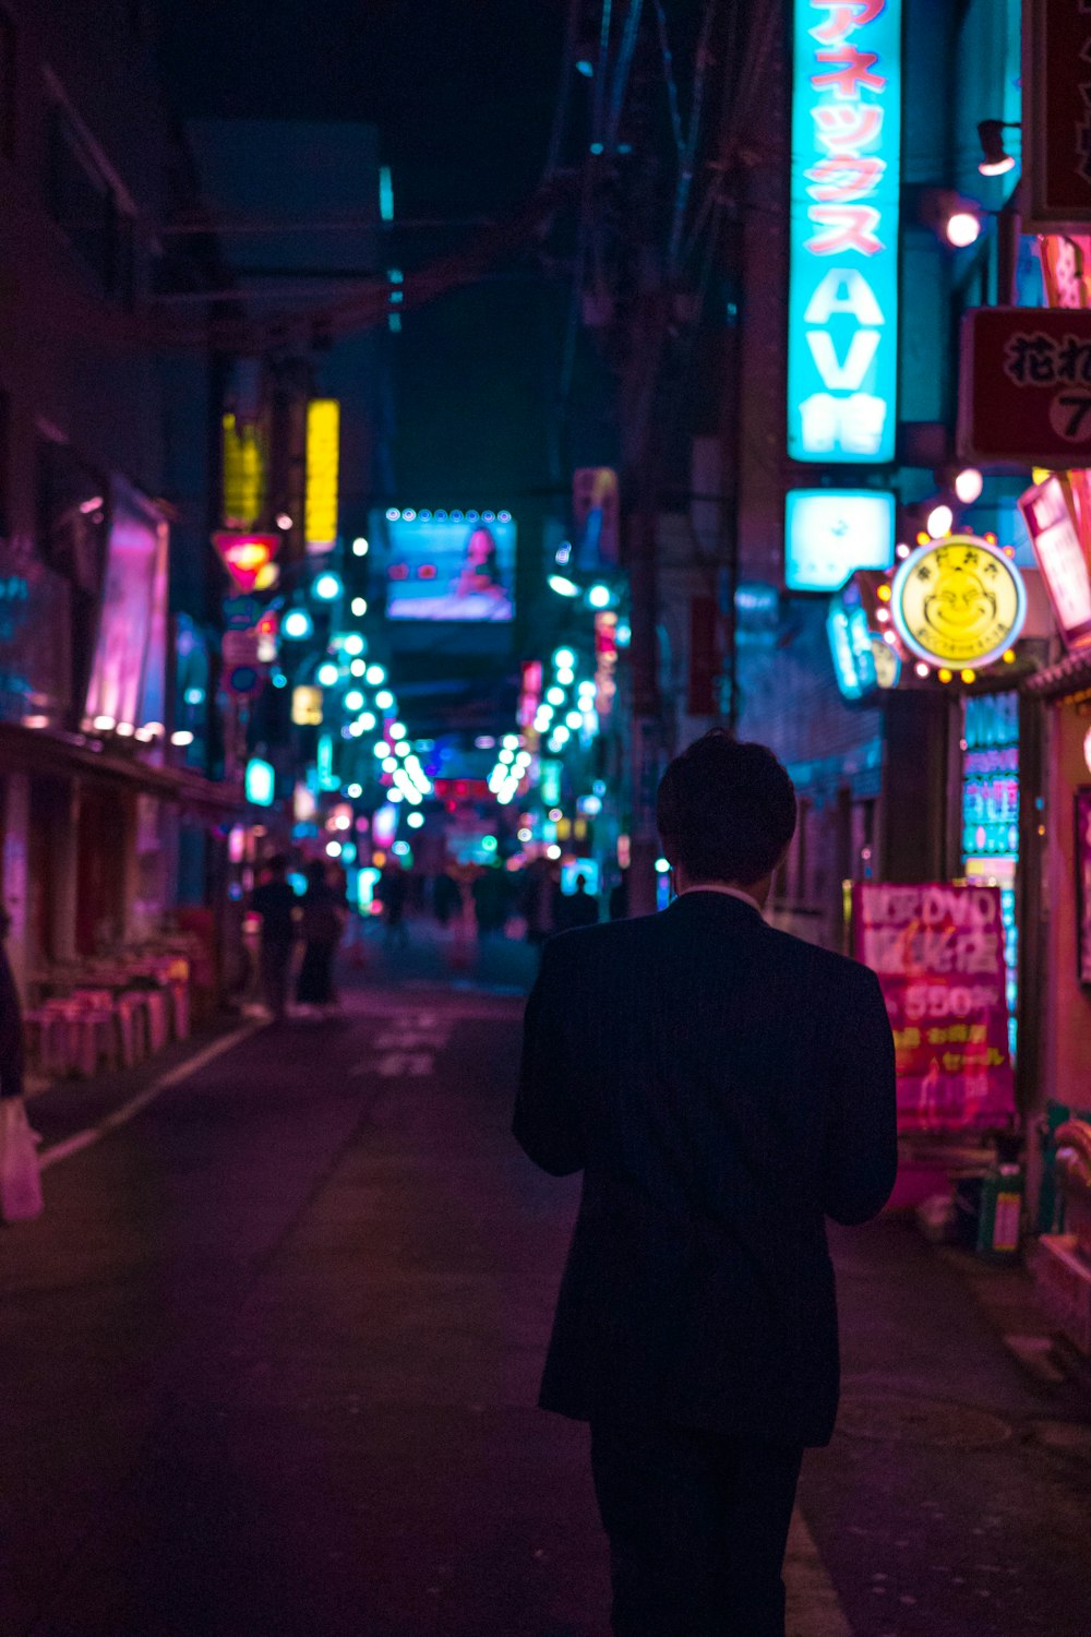
[[[515,617],[510,512],[386,514],[391,620],[509,624]]]

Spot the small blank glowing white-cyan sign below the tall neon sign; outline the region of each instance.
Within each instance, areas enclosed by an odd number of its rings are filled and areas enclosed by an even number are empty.
[[[788,489],[788,591],[836,591],[857,568],[895,560],[895,498],[880,489]]]

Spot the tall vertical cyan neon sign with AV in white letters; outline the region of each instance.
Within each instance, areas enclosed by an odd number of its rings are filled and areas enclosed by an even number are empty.
[[[890,462],[901,0],[795,0],[788,453]]]

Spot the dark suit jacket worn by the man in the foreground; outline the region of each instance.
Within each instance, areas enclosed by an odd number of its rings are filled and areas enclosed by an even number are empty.
[[[540,1403],[826,1444],[826,1216],[895,1182],[875,974],[720,892],[563,933],[527,1003],[515,1136],[584,1172]]]

